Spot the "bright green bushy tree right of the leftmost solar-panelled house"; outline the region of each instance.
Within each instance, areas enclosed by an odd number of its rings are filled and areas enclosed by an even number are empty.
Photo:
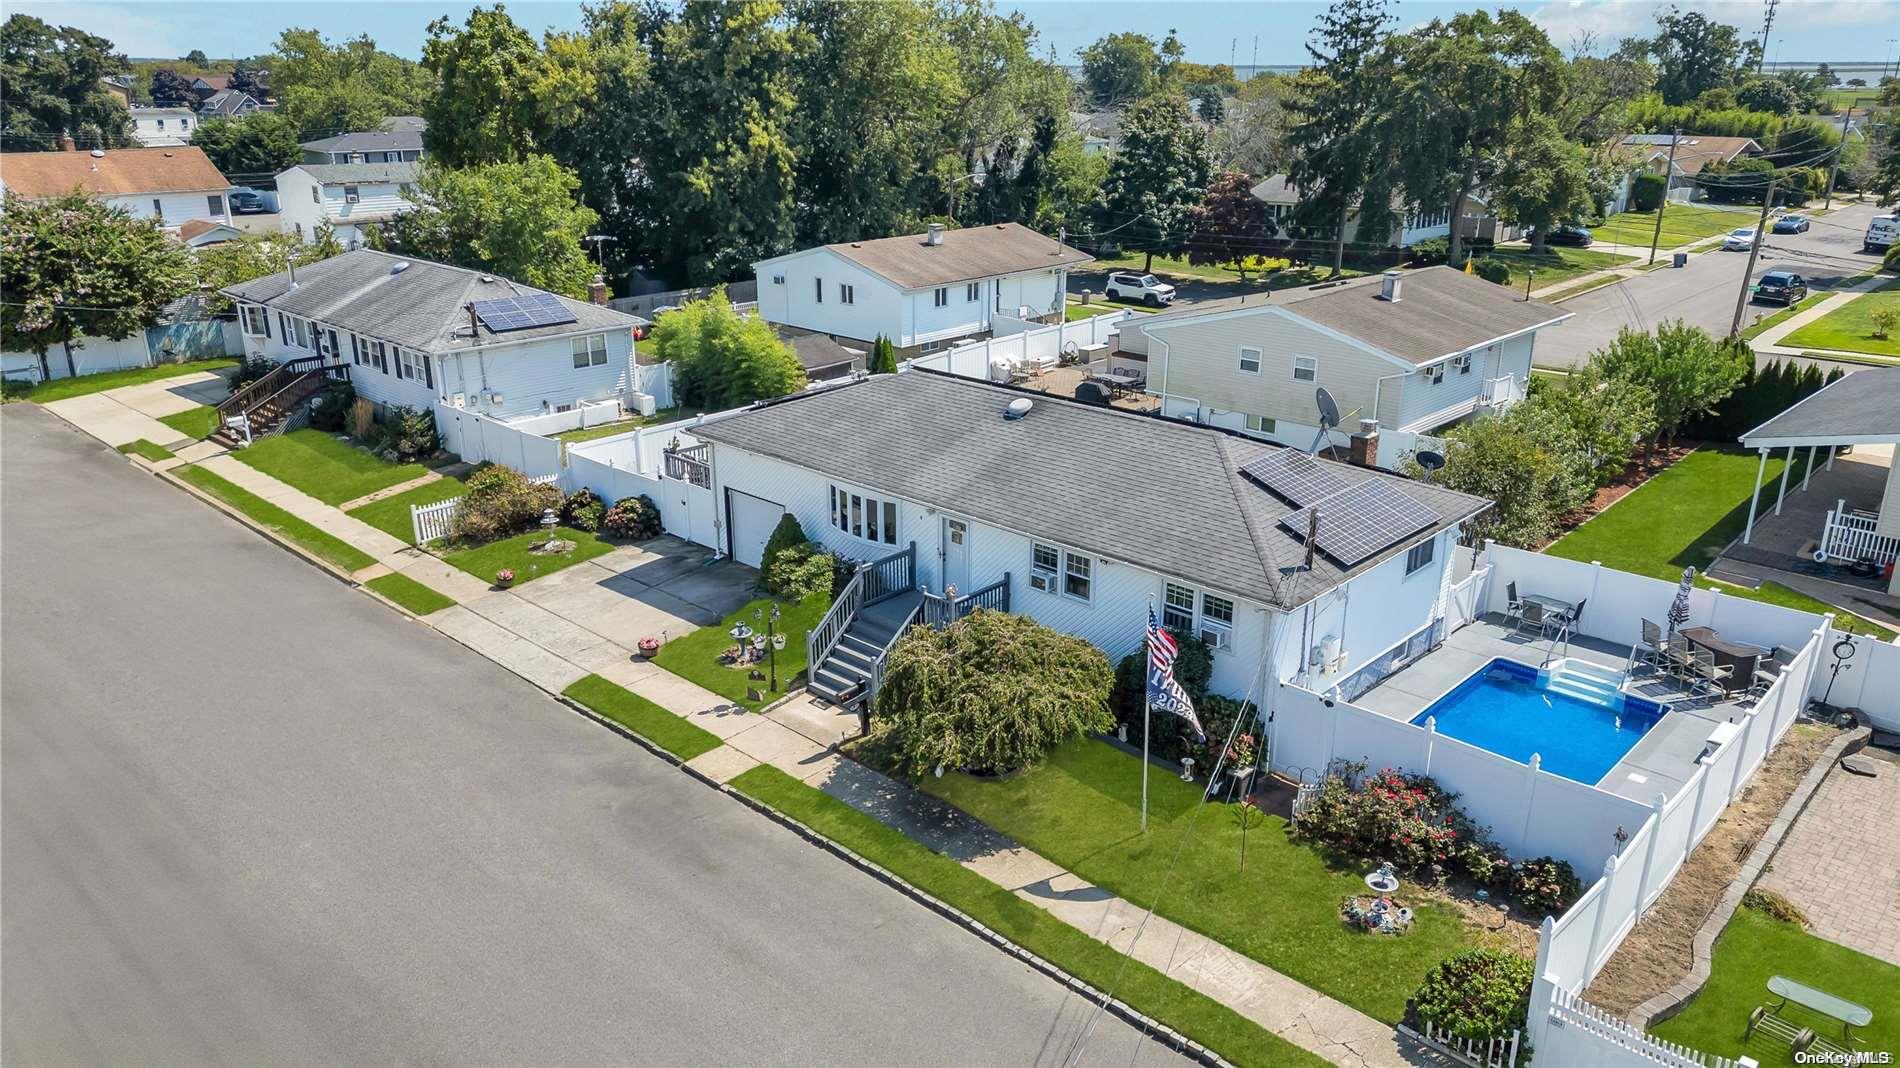
[[[739,317],[726,287],[705,300],[690,300],[654,323],[648,346],[673,365],[680,403],[703,409],[735,409],[783,397],[806,384],[792,348],[758,315]]]

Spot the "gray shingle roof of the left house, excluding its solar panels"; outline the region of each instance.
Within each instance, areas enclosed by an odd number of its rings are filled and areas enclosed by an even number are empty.
[[[399,272],[391,270],[403,262],[408,266]],[[484,277],[490,281],[483,281]],[[466,310],[471,300],[542,291],[498,276],[483,276],[429,260],[405,260],[370,249],[357,249],[296,268],[296,289],[291,289],[289,272],[279,272],[226,287],[220,293],[424,352],[452,352],[580,331],[629,331],[646,325],[646,319],[638,315],[560,296],[560,302],[574,312],[574,323],[505,334],[496,334],[488,327],[471,333]]]

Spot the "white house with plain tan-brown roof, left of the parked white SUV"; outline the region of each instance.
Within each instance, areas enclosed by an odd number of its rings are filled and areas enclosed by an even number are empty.
[[[1068,272],[1092,257],[1016,222],[840,241],[758,260],[766,321],[899,355],[988,334],[1001,317],[1062,317]]]

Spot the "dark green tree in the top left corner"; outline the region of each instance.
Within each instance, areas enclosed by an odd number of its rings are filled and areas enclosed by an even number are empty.
[[[0,148],[46,152],[70,133],[87,148],[131,144],[129,112],[99,82],[129,68],[112,42],[32,15],[0,25]]]

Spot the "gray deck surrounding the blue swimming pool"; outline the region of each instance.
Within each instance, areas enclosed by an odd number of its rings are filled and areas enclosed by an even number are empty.
[[[1410,722],[1492,659],[1541,667],[1545,659],[1564,656],[1623,671],[1630,648],[1577,635],[1568,648],[1558,644],[1552,650],[1550,639],[1520,635],[1501,616],[1486,616],[1454,633],[1436,650],[1395,671],[1353,703]],[[1662,703],[1668,711],[1596,787],[1644,804],[1653,802],[1657,794],[1674,796],[1695,773],[1695,762],[1716,724],[1744,711],[1735,701],[1691,696],[1674,680],[1657,678],[1647,669],[1628,678],[1623,690]]]

